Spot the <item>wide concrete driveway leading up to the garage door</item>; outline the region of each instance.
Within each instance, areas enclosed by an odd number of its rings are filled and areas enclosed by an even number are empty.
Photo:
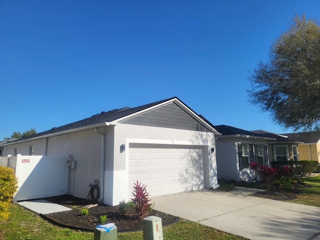
[[[154,209],[249,239],[320,239],[320,208],[248,194],[237,187],[153,197]]]

